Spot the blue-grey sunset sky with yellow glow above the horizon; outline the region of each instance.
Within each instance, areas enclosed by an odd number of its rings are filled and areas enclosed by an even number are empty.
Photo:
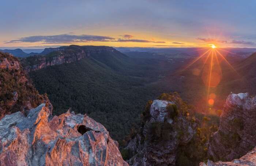
[[[4,0],[0,49],[256,47],[255,0]]]

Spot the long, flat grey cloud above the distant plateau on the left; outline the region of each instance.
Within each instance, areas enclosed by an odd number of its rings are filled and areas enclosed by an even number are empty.
[[[71,34],[62,34],[62,35],[51,35],[51,36],[29,36],[20,38],[18,40],[10,40],[5,43],[20,43],[20,42],[43,42],[43,43],[78,43],[78,42],[109,42],[114,40],[114,38],[109,36],[97,36],[97,35],[71,35]]]

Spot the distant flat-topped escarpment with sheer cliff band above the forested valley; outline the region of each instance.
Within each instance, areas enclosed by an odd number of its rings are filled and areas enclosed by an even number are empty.
[[[58,48],[46,48],[41,54],[22,59],[22,65],[27,72],[42,69],[46,66],[60,65],[79,61],[91,54],[108,53],[117,51],[107,46],[63,46]]]

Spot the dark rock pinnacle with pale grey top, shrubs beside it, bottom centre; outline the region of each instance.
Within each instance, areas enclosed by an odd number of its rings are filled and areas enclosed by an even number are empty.
[[[178,146],[187,144],[192,139],[197,126],[181,112],[176,116],[170,115],[174,109],[170,111],[166,107],[174,103],[177,104],[175,101],[153,101],[150,117],[141,133],[137,134],[125,147],[130,153],[135,154],[129,159],[129,165],[176,165]]]

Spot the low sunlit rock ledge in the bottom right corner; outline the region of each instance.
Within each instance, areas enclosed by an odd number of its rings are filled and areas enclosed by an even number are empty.
[[[212,162],[208,160],[207,164],[202,162],[199,166],[255,166],[256,165],[256,148],[249,151],[246,155],[240,159],[234,159],[230,162]]]

